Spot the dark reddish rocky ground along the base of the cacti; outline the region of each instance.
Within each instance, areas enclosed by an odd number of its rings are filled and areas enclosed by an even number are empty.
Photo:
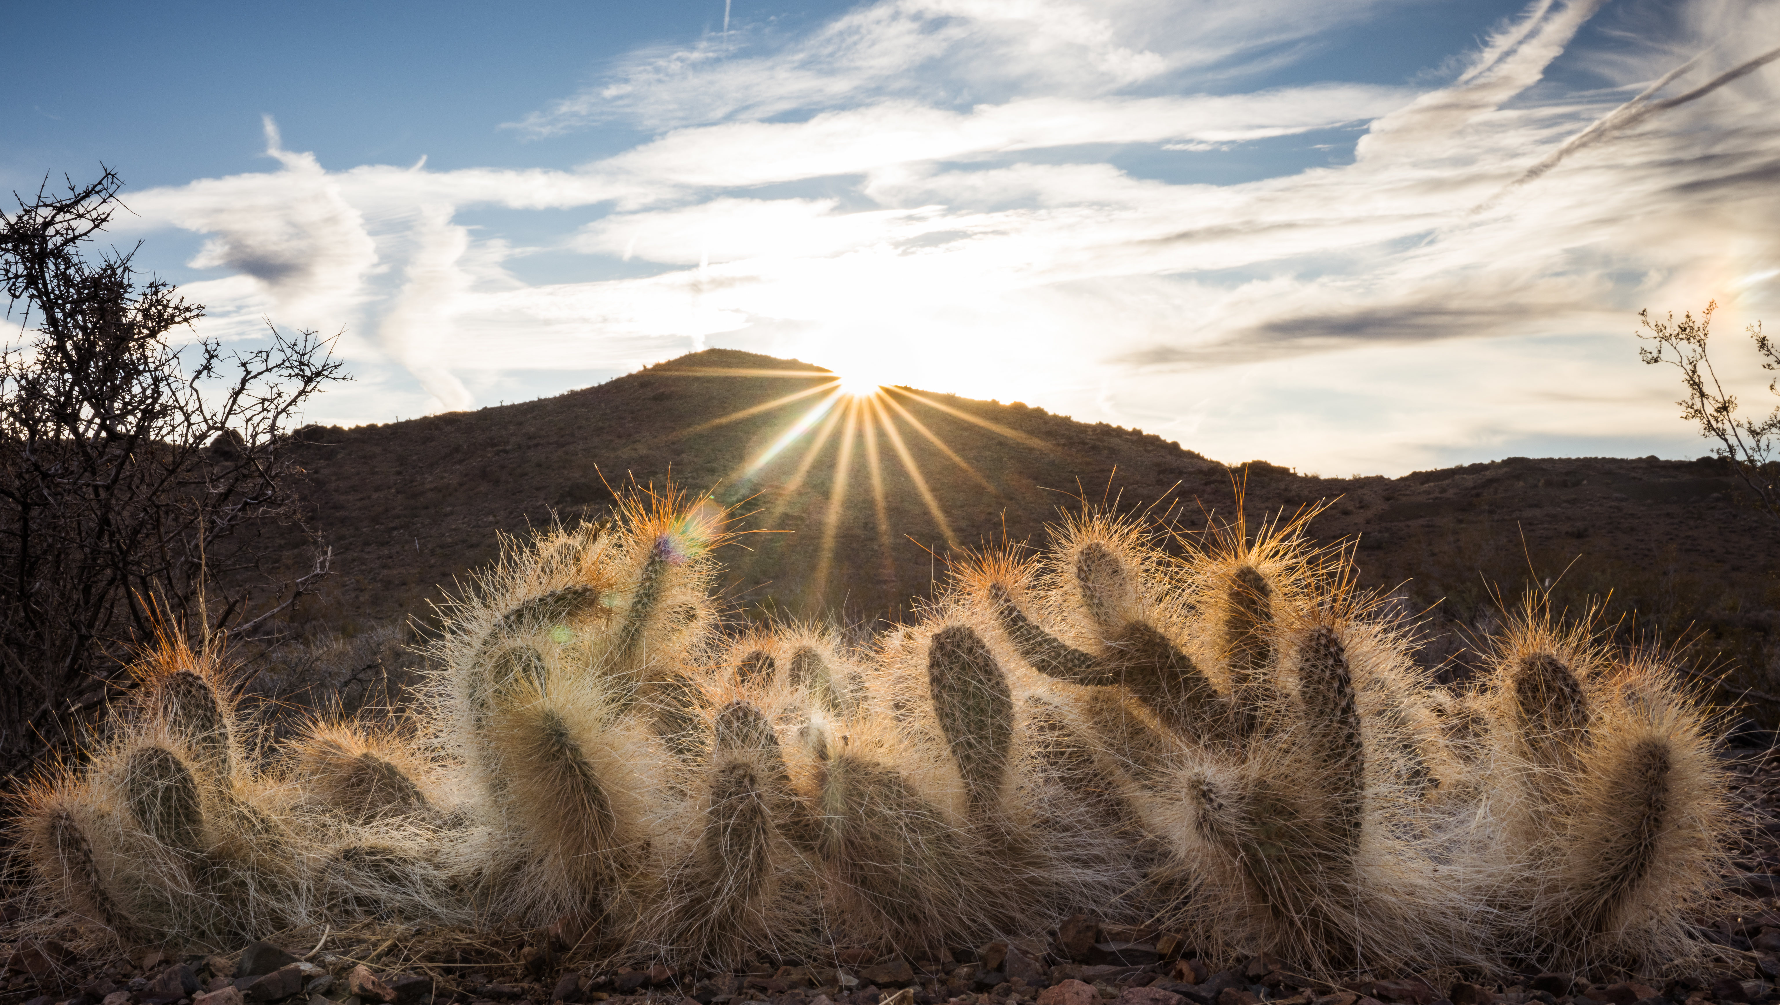
[[[675,973],[577,962],[595,941],[557,923],[530,934],[285,934],[228,955],[96,948],[48,937],[5,909],[0,1005],[1759,1005],[1780,1003],[1780,748],[1734,750],[1734,813],[1752,821],[1727,877],[1727,909],[1698,918],[1719,962],[1668,978],[1429,971],[1330,984],[1267,955],[1207,960],[1180,936],[1102,925],[1088,912],[1043,936],[952,948],[938,959],[838,950],[831,962],[755,962]],[[1730,905],[1741,905],[1736,911]],[[25,932],[32,932],[25,936]],[[301,937],[299,937],[301,936]],[[278,944],[281,943],[281,944]],[[310,952],[304,948],[313,946]],[[82,952],[85,950],[85,952]],[[301,955],[299,955],[301,953]],[[1228,966],[1235,964],[1235,966]],[[1607,982],[1591,976],[1609,976]],[[1620,975],[1623,976],[1623,975]]]

